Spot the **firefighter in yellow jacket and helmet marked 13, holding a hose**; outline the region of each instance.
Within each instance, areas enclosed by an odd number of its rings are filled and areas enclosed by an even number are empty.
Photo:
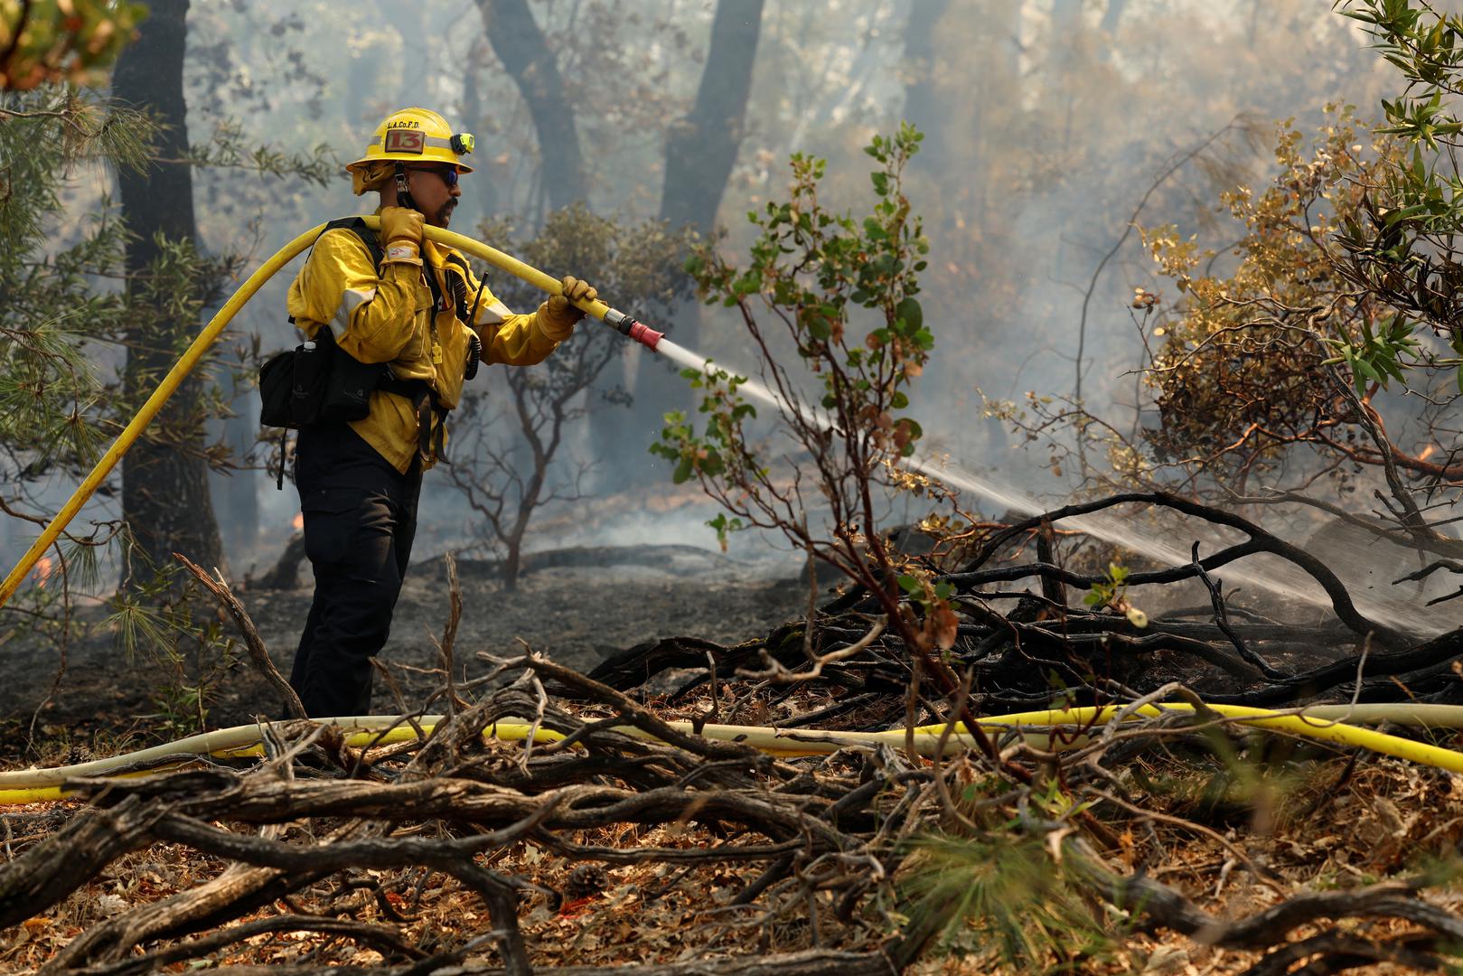
[[[326,230],[290,287],[290,315],[307,339],[389,367],[364,418],[307,426],[296,449],[315,600],[290,685],[312,717],[370,713],[372,657],[386,642],[411,556],[421,473],[442,455],[446,416],[478,357],[543,361],[584,318],[569,300],[597,297],[566,277],[562,296],[515,315],[459,253],[426,240],[426,224],[451,222],[471,151],[473,136],[435,111],[388,116],[345,167],[357,196],[380,193],[379,236],[363,225]]]

